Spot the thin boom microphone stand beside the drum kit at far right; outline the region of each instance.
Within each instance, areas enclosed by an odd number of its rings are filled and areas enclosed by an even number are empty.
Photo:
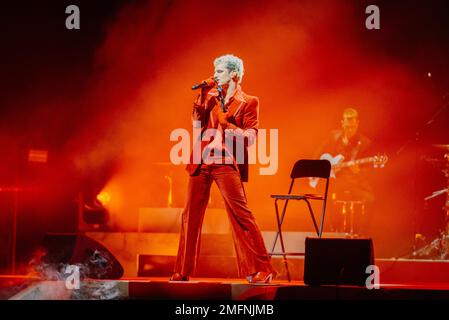
[[[446,98],[448,97],[449,92],[446,92],[443,95],[443,100],[446,100]],[[399,155],[402,153],[402,151],[404,151],[404,149],[406,149],[412,142],[415,145],[415,174],[414,174],[414,181],[413,181],[413,186],[414,186],[414,202],[413,202],[413,212],[414,212],[414,217],[413,217],[413,248],[412,248],[412,256],[416,255],[416,238],[417,238],[417,216],[418,216],[418,209],[417,209],[417,197],[418,197],[418,146],[419,146],[419,141],[424,133],[424,131],[430,127],[435,120],[443,113],[443,111],[445,111],[447,109],[447,107],[449,106],[449,101],[446,100],[444,101],[444,103],[437,109],[437,111],[432,115],[432,117],[424,123],[424,125],[419,128],[415,134],[414,137],[412,139],[407,140],[397,151],[396,151],[396,155]]]

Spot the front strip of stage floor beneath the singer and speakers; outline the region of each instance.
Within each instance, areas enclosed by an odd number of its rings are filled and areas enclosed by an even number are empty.
[[[449,283],[391,283],[379,289],[357,286],[310,286],[302,281],[251,285],[241,279],[167,278],[84,280],[79,289],[65,281],[0,277],[2,299],[11,300],[449,300]]]

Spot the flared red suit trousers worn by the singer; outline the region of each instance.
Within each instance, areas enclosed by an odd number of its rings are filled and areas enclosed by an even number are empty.
[[[270,257],[248,208],[239,172],[232,165],[221,164],[202,165],[199,174],[190,176],[174,272],[194,274],[200,254],[201,227],[213,181],[221,192],[231,222],[240,277],[259,271],[272,272]]]

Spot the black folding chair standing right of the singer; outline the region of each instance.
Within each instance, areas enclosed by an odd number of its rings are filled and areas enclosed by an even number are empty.
[[[299,160],[295,163],[292,169],[292,173],[290,177],[292,179],[290,183],[290,188],[288,189],[288,194],[272,194],[271,198],[274,198],[274,206],[276,209],[276,220],[278,224],[278,232],[276,233],[276,237],[274,239],[273,247],[270,252],[270,256],[273,255],[282,255],[284,258],[284,265],[287,271],[288,281],[291,281],[290,271],[288,269],[287,256],[303,256],[304,252],[285,252],[284,239],[282,237],[282,223],[284,221],[285,213],[287,211],[287,205],[290,200],[302,200],[305,201],[307,207],[309,209],[310,216],[313,221],[313,226],[315,227],[315,231],[317,236],[321,238],[323,233],[323,225],[324,225],[324,215],[326,213],[326,202],[327,202],[327,191],[329,189],[329,176],[331,172],[331,163],[328,160]],[[326,179],[326,187],[323,193],[319,194],[310,194],[310,193],[300,193],[300,194],[292,194],[293,185],[295,180],[298,178],[322,178]],[[279,206],[278,201],[284,200],[284,207],[282,209],[282,214],[279,214]],[[315,215],[313,213],[312,206],[310,205],[310,200],[319,200],[322,201],[322,212],[321,212],[321,223],[318,228],[318,225],[315,220]],[[276,248],[276,243],[278,238],[281,240],[281,249],[282,253],[275,253],[274,249]]]

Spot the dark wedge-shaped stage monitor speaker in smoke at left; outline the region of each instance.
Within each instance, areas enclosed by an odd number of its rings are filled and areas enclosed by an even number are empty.
[[[48,233],[44,237],[44,267],[57,272],[66,265],[80,267],[80,275],[91,279],[118,279],[123,276],[120,262],[103,245],[82,234]]]

